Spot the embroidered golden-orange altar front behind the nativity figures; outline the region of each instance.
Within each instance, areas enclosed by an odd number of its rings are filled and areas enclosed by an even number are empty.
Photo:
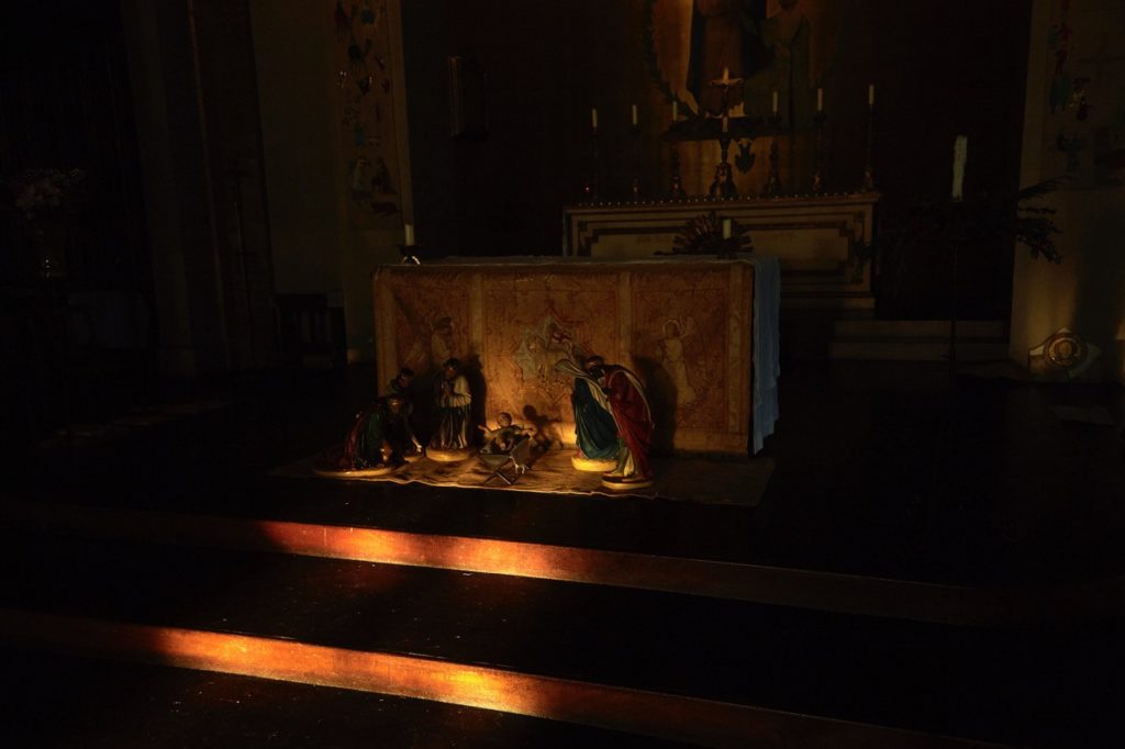
[[[745,457],[762,437],[752,424],[755,274],[749,260],[699,258],[380,267],[379,381],[402,367],[424,381],[457,358],[478,423],[506,412],[541,441],[573,445],[574,379],[555,363],[597,354],[645,382],[656,450]]]

